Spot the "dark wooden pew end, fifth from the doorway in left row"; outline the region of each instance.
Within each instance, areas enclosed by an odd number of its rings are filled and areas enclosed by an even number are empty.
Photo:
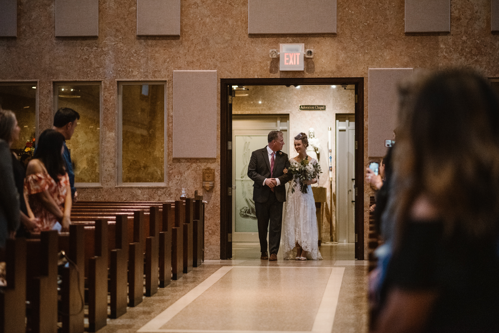
[[[158,291],[159,281],[159,227],[162,223],[159,207],[151,206],[149,230],[146,237],[146,296],[153,296]]]

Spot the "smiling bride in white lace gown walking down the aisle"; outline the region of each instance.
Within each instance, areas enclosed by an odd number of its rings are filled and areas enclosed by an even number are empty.
[[[310,163],[315,164],[317,161],[306,155],[306,147],[308,140],[305,133],[300,133],[294,138],[294,149],[298,156],[290,159],[291,164],[297,164],[299,161],[307,158]],[[285,170],[287,172],[287,170]],[[302,193],[300,184],[296,182],[294,192],[291,193],[291,188],[294,181],[287,191],[286,205],[284,208],[284,260],[321,260],[322,256],[319,252],[317,241],[317,217],[315,215],[315,200],[313,198],[312,187],[310,184],[315,184],[317,179],[306,181],[307,193]]]

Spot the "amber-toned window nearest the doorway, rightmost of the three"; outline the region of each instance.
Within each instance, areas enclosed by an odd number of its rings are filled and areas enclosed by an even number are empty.
[[[118,82],[118,186],[166,185],[166,81]]]

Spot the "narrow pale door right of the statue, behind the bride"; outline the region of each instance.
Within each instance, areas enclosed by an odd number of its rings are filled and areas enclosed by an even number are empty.
[[[355,115],[336,115],[336,239],[355,243]]]

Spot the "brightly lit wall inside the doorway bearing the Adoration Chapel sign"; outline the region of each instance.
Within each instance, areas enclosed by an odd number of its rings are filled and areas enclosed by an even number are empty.
[[[319,178],[318,186],[326,187],[327,209],[331,212],[333,225],[335,220],[335,204],[330,206],[331,184],[333,193],[336,191],[336,114],[355,112],[355,93],[353,85],[347,90],[340,85],[310,85],[310,86],[244,86],[247,91],[237,91],[233,99],[233,114],[288,114],[289,115],[289,157],[298,154],[293,149],[293,138],[300,132],[309,135],[309,129],[314,129],[314,136],[320,145],[319,162],[323,173]],[[325,111],[299,111],[300,105],[325,105]],[[332,182],[328,175],[328,131],[331,127],[331,147],[333,161]],[[311,148],[311,147],[309,147]],[[333,232],[333,237],[335,237]],[[324,215],[322,221],[323,242],[330,238],[329,220]],[[334,239],[333,239],[334,240]]]

